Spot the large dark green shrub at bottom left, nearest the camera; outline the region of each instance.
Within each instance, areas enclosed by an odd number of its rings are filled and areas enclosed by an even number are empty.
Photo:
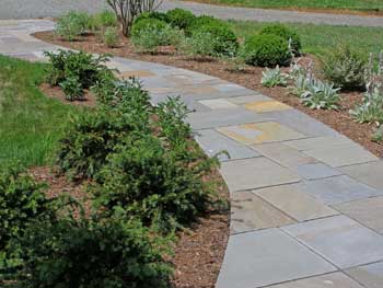
[[[169,287],[166,242],[137,222],[65,217],[39,221],[21,240],[23,288]]]

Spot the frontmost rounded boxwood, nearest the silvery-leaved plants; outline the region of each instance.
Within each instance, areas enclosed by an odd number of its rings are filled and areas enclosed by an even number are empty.
[[[242,53],[245,62],[253,66],[286,66],[291,60],[288,44],[276,35],[254,35],[247,38]]]

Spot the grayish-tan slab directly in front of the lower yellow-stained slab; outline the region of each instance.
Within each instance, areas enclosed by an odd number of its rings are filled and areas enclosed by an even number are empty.
[[[287,168],[297,168],[316,160],[281,142],[254,145],[252,148]]]

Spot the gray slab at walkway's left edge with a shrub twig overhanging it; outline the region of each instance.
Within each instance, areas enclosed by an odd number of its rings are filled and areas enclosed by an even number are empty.
[[[221,161],[259,157],[259,153],[256,151],[212,129],[198,130],[195,138],[209,157],[227,151],[229,157],[220,154],[219,159]]]

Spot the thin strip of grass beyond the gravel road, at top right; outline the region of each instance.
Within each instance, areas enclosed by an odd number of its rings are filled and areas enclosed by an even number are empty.
[[[252,8],[299,8],[383,11],[382,0],[200,0],[202,2]]]

